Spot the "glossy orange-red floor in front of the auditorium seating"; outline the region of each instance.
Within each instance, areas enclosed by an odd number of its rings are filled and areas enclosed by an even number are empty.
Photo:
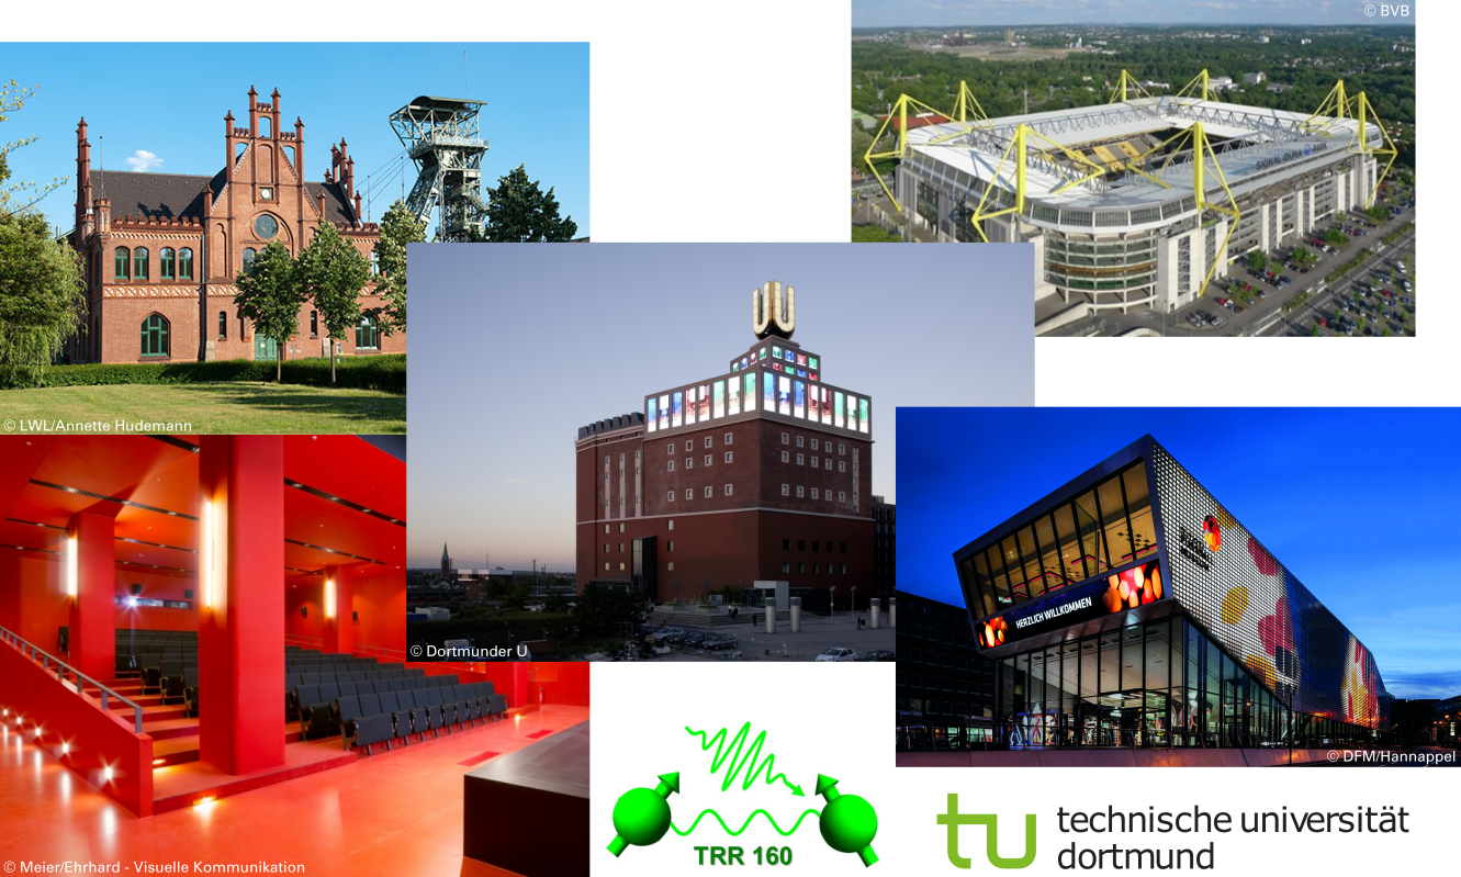
[[[462,858],[462,766],[587,721],[584,706],[412,743],[336,770],[136,819],[13,731],[0,731],[0,851],[34,862],[304,865],[314,877],[492,874]],[[551,740],[552,735],[542,740]],[[584,839],[587,842],[587,839]]]

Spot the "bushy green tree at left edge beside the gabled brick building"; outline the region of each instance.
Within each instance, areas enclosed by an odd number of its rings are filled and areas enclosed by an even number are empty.
[[[0,156],[0,183],[6,175]],[[45,218],[0,212],[0,383],[39,386],[82,324],[82,259]]]

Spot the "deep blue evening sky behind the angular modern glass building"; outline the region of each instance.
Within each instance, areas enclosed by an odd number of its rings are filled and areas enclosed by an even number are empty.
[[[899,411],[899,588],[963,605],[953,553],[1145,433],[1373,653],[1461,694],[1455,408]]]

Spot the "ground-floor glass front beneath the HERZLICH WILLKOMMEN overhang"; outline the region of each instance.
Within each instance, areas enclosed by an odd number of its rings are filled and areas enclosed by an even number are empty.
[[[993,741],[1011,747],[1287,747],[1284,703],[1182,617],[998,661]],[[1296,747],[1373,732],[1296,712]]]

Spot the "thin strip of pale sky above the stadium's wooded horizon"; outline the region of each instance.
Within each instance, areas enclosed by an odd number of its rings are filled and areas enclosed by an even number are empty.
[[[939,25],[1410,25],[1416,3],[1367,18],[1369,0],[852,0],[853,28]],[[1398,7],[1408,6],[1408,16]]]

